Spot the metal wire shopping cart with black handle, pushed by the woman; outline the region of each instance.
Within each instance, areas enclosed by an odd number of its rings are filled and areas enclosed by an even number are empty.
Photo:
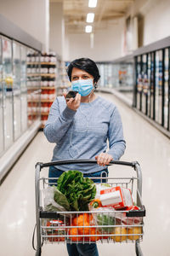
[[[139,242],[144,235],[145,209],[142,204],[142,173],[138,162],[112,160],[110,165],[133,167],[134,176],[130,177],[95,177],[100,182],[110,187],[120,186],[132,191],[133,203],[139,210],[114,210],[107,209],[90,212],[52,212],[44,207],[43,191],[54,183],[54,178],[40,177],[42,168],[59,166],[63,164],[97,164],[96,160],[58,160],[49,163],[37,163],[36,165],[36,218],[37,218],[37,248],[36,255],[41,255],[43,243],[103,243],[103,242],[133,242],[136,255],[142,256]],[[132,172],[132,171],[131,171]],[[132,174],[132,173],[131,173]],[[92,177],[90,177],[92,178]],[[53,179],[50,181],[50,179]],[[92,178],[93,179],[93,178]],[[56,177],[55,177],[56,180]],[[52,182],[52,183],[51,183]],[[82,216],[82,224],[78,223]],[[88,224],[84,224],[88,216]],[[76,219],[76,222],[75,222]],[[94,221],[95,220],[95,221]],[[97,222],[96,222],[97,220]],[[79,230],[81,232],[79,233]],[[35,232],[35,230],[34,230]]]

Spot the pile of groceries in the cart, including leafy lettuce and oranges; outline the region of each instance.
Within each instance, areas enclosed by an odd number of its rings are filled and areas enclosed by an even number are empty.
[[[60,233],[59,226],[58,229],[48,229],[49,235],[58,234],[53,241],[63,241],[63,238],[59,240],[59,234],[63,232],[73,242],[103,239],[120,242],[137,240],[142,236],[143,219],[127,217],[126,214],[132,210],[139,211],[139,207],[133,206],[130,189],[111,187],[107,183],[95,184],[90,178],[84,178],[82,172],[64,172],[57,186],[48,187],[45,209],[61,212],[60,215],[67,220],[67,228],[60,229]]]

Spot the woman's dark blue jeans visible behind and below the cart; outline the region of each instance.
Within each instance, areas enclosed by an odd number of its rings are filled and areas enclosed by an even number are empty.
[[[59,177],[63,172],[59,169],[57,169],[54,166],[49,167],[49,172],[48,172],[48,177]],[[107,177],[108,176],[108,170],[107,168],[103,171],[100,172],[94,172],[94,173],[88,173],[88,174],[83,174],[83,177]],[[105,183],[106,179],[98,179],[95,178],[93,179],[94,183]],[[49,180],[49,183],[57,183],[57,179],[51,179]],[[67,247],[67,252],[69,256],[99,256],[98,253],[98,248],[95,243],[73,243],[73,244],[66,244]]]

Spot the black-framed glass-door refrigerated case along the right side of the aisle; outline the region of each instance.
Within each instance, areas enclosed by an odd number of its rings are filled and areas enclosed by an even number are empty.
[[[170,38],[138,49],[133,55],[136,72],[134,107],[169,137]]]

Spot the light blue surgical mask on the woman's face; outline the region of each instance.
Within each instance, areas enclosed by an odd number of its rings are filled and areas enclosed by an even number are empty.
[[[90,92],[94,89],[93,79],[79,79],[71,82],[72,90],[78,91],[81,96],[88,96]]]

